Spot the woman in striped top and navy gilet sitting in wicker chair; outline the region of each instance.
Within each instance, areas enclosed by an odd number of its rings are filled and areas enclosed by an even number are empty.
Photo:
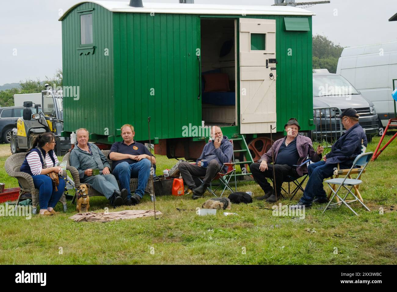
[[[39,189],[40,215],[50,216],[58,213],[54,211],[54,207],[65,189],[66,183],[60,179],[58,191],[55,191],[52,180],[48,176],[53,171],[62,174],[62,168],[56,166],[58,159],[54,153],[55,143],[54,133],[39,135],[21,165],[21,171],[30,174],[35,188]]]

